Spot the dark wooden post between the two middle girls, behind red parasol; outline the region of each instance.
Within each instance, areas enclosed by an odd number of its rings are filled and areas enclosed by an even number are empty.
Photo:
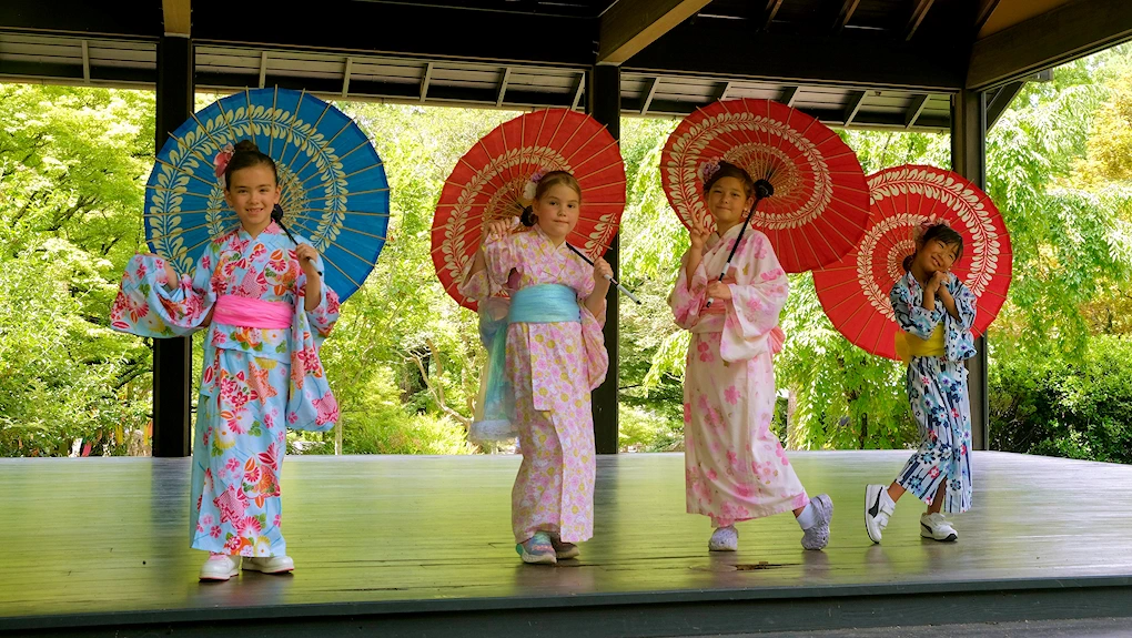
[[[621,70],[612,64],[592,67],[588,74],[586,111],[601,122],[612,133],[614,139],[621,137]],[[585,202],[582,202],[585,206]],[[606,253],[606,261],[614,268],[614,278],[620,276],[618,255],[620,236],[615,236]],[[609,290],[609,305],[606,310],[606,350],[609,351],[609,373],[606,382],[593,391],[593,433],[598,454],[617,454],[618,448],[618,413],[617,393],[619,388],[618,365],[618,292]]]

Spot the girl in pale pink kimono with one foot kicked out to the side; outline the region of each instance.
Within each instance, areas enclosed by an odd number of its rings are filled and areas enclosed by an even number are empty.
[[[770,429],[786,271],[766,235],[748,229],[727,276],[718,279],[755,204],[754,182],[727,162],[705,164],[701,178],[717,232],[709,234],[696,219],[668,298],[676,322],[692,331],[684,374],[688,512],[711,517],[711,551],[738,549],[736,523],[783,511],[798,519],[801,546],[821,550],[833,503],[825,494],[806,497]]]

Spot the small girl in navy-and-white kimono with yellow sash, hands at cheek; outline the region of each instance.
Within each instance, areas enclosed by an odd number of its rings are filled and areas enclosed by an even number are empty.
[[[943,512],[971,507],[971,413],[963,361],[975,356],[976,298],[951,267],[963,238],[943,223],[918,229],[916,252],[889,294],[900,331],[897,352],[908,364],[907,389],[921,442],[891,485],[865,489],[865,528],[874,543],[904,492],[926,502],[920,536],[955,541]]]

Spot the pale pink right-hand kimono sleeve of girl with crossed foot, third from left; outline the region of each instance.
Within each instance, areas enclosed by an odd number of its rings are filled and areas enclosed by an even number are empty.
[[[790,283],[770,241],[762,233],[744,241],[731,266],[736,283],[729,284],[720,356],[743,361],[781,347],[779,314],[786,305]]]

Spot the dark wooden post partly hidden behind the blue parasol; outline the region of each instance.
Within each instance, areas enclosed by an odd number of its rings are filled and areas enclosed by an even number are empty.
[[[162,36],[157,42],[157,150],[185,120],[194,104],[192,41]],[[153,340],[153,456],[189,456],[189,393],[192,340]]]

